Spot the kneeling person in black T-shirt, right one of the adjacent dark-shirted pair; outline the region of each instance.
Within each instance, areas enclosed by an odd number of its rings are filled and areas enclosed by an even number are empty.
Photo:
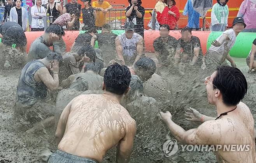
[[[181,38],[178,40],[178,45],[176,49],[175,59],[181,58],[181,49],[182,53],[182,62],[189,62],[191,65],[202,66],[202,50],[201,42],[198,37],[193,36],[191,28],[185,27],[181,30]]]

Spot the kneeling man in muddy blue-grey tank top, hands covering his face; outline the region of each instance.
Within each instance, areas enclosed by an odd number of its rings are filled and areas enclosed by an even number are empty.
[[[59,87],[59,61],[62,61],[61,54],[50,53],[25,65],[19,77],[14,119],[30,124],[53,114],[54,107],[47,104],[45,98],[47,89],[54,91]]]

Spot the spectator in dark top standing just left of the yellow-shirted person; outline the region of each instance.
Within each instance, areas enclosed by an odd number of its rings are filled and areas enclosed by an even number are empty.
[[[84,26],[82,30],[87,31],[90,28],[95,27],[96,11],[91,7],[91,0],[82,0],[84,2],[84,8],[82,9],[82,21]]]

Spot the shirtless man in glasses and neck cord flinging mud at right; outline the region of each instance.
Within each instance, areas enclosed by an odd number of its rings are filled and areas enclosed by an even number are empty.
[[[237,68],[223,66],[205,78],[207,98],[216,106],[217,118],[203,116],[198,128],[185,131],[172,121],[170,112],[160,112],[172,135],[183,144],[222,145],[216,151],[219,163],[256,162],[254,120],[250,109],[240,102],[247,92],[247,81]],[[188,112],[188,120],[193,113]],[[249,151],[224,151],[224,145],[249,145]],[[246,161],[245,161],[246,160]]]

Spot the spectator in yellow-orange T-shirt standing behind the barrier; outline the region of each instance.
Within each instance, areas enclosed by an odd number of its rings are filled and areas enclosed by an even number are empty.
[[[95,25],[98,28],[98,30],[101,30],[102,26],[107,23],[106,22],[107,12],[109,10],[113,9],[113,7],[109,4],[109,2],[103,1],[103,0],[98,0],[98,1],[93,2],[92,6],[95,9],[97,9]]]

